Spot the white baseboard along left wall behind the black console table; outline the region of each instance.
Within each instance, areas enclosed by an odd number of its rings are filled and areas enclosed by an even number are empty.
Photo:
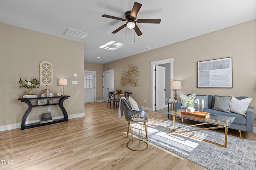
[[[85,113],[76,113],[76,114],[68,115],[68,119],[74,119],[74,118],[77,118],[77,117],[84,117],[84,116],[85,116]],[[52,119],[61,119],[63,117],[64,116],[58,116],[58,117],[53,117]],[[28,122],[25,122],[25,124],[36,123],[36,122],[39,122],[39,121],[38,120],[28,121]],[[0,131],[7,131],[7,130],[11,130],[11,129],[17,129],[17,128],[20,128],[20,127],[21,127],[21,123],[14,123],[14,124],[11,124],[11,125],[3,125],[3,126],[0,126]]]

